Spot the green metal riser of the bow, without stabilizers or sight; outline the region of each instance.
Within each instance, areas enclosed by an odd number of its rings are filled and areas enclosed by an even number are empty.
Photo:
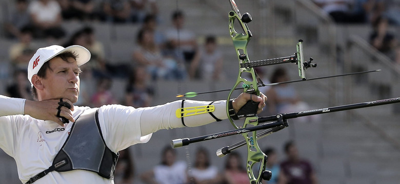
[[[232,9],[234,11],[229,12],[229,32],[239,61],[239,74],[234,86],[229,92],[228,101],[231,98],[233,91],[239,84],[242,84],[242,87],[244,87],[244,93],[250,93],[256,96],[260,95],[260,92],[258,90],[257,76],[255,75],[254,68],[241,67],[241,64],[250,62],[247,55],[247,45],[250,41],[250,38],[252,37],[251,31],[249,30],[246,22],[243,21],[242,19],[243,17],[240,14],[239,10],[237,9],[237,6],[234,3],[234,1],[231,0],[230,2]],[[251,20],[250,14],[246,13],[246,16],[250,17],[249,19]],[[243,29],[243,33],[238,33],[235,30],[234,28],[235,23],[240,24],[241,28]],[[252,80],[249,81],[243,78],[245,74],[250,74]],[[229,105],[227,103],[227,113],[228,111],[229,111]],[[237,126],[230,117],[228,119],[236,129],[242,128],[241,126]],[[246,116],[245,122],[243,124],[244,128],[247,128],[248,126],[250,127],[257,125],[258,125],[258,117],[256,116],[255,113],[252,117]],[[262,173],[265,171],[267,156],[261,151],[261,149],[258,146],[256,138],[257,136],[255,131],[249,133],[242,133],[242,135],[244,136],[248,146],[246,171],[249,176],[250,183],[251,184],[262,183]],[[257,165],[259,165],[258,168],[256,168]],[[257,169],[257,174],[255,175],[253,170],[256,169]]]

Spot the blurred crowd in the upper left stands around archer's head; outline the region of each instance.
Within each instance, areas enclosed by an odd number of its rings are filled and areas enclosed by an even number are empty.
[[[150,83],[157,80],[220,80],[223,78],[223,56],[217,39],[209,35],[199,45],[195,34],[184,27],[185,15],[176,10],[170,15],[168,29],[158,29],[158,7],[153,0],[16,0],[5,22],[5,36],[15,43],[9,48],[11,66],[3,78],[14,74],[7,89],[8,96],[29,97],[29,84],[23,77],[29,59],[38,48],[37,40],[63,47],[78,44],[87,48],[91,61],[82,67],[81,98],[77,105],[101,106],[121,103],[134,107],[152,104],[154,89]],[[67,35],[65,21],[83,22],[81,29]],[[109,61],[105,46],[96,38],[95,30],[85,22],[104,24],[134,24],[129,62]],[[43,46],[43,45],[41,45]],[[127,49],[127,48],[122,48]],[[0,71],[2,72],[2,71]],[[9,75],[9,76],[7,76]],[[113,79],[125,81],[124,97],[115,97],[110,91]],[[25,87],[28,86],[28,87]]]

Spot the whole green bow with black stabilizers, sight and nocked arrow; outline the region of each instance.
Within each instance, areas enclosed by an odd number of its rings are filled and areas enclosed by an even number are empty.
[[[328,113],[328,112],[335,112],[335,111],[342,111],[342,110],[349,110],[355,108],[364,108],[369,106],[377,106],[377,105],[385,105],[389,103],[398,103],[400,102],[400,98],[393,98],[393,99],[385,99],[379,101],[371,101],[365,103],[358,103],[358,104],[350,104],[350,105],[343,105],[337,107],[327,107],[321,109],[314,109],[308,111],[301,111],[301,112],[291,112],[291,113],[284,113],[284,114],[276,114],[270,117],[261,117],[258,118],[256,115],[258,103],[253,101],[249,101],[243,106],[237,113],[232,112],[229,105],[229,101],[231,99],[231,95],[234,90],[236,89],[243,89],[244,93],[249,93],[252,95],[260,96],[261,93],[258,90],[259,86],[266,86],[269,84],[264,84],[261,80],[259,80],[258,75],[254,71],[253,67],[257,66],[266,66],[266,65],[273,65],[273,64],[282,64],[282,63],[295,63],[298,66],[298,74],[301,78],[300,81],[305,81],[306,75],[305,71],[309,67],[316,67],[315,63],[311,63],[312,58],[309,61],[304,60],[303,56],[303,40],[299,39],[298,43],[296,44],[296,52],[294,55],[288,57],[281,57],[281,58],[272,58],[266,60],[258,60],[258,61],[250,61],[248,54],[247,54],[247,45],[252,37],[252,33],[249,30],[247,23],[249,23],[252,18],[249,13],[241,14],[237,8],[237,5],[234,0],[229,0],[230,5],[232,7],[232,11],[229,12],[229,33],[233,41],[233,45],[235,47],[235,52],[237,54],[237,58],[239,61],[239,74],[237,80],[229,91],[229,95],[227,98],[227,114],[228,119],[235,127],[235,130],[229,130],[225,132],[219,132],[209,135],[203,135],[193,138],[184,138],[184,139],[175,139],[172,140],[171,145],[173,148],[182,147],[189,145],[191,143],[217,139],[219,137],[225,137],[230,135],[242,134],[245,138],[244,141],[236,143],[231,146],[227,146],[217,150],[217,156],[224,156],[234,149],[247,145],[248,155],[247,155],[247,162],[246,162],[246,170],[249,176],[250,184],[261,184],[262,180],[269,180],[271,178],[272,173],[270,171],[266,171],[266,163],[267,163],[267,155],[265,155],[258,146],[258,139],[269,135],[273,132],[279,131],[284,129],[288,126],[288,119],[303,117],[303,116],[311,116],[314,114],[321,114],[321,113]],[[242,28],[243,33],[239,33],[235,30],[234,25],[235,23],[239,24]],[[368,71],[362,73],[369,73],[369,72],[377,72],[375,71]],[[248,80],[244,77],[246,75],[251,75],[251,80]],[[314,78],[315,79],[323,79],[323,78],[330,78],[330,77],[338,77],[338,76],[345,76],[345,75],[354,75],[354,74],[361,74],[361,73],[353,73],[353,74],[343,74],[337,76],[328,76],[328,77],[320,77]],[[288,81],[283,83],[291,83],[291,82],[298,82],[298,81]],[[280,83],[275,83],[271,85],[277,85]],[[240,86],[242,85],[242,86]],[[239,87],[238,87],[239,86]],[[205,93],[213,93],[218,91],[225,91],[225,90],[216,90],[216,91],[209,91]],[[177,97],[194,97],[198,94],[205,94],[205,93],[194,93],[190,92],[185,95],[178,95]],[[233,118],[233,119],[232,119]],[[233,120],[237,120],[238,118],[245,118],[244,124],[242,126],[238,126],[234,123]],[[270,123],[265,123],[270,122]],[[264,123],[264,124],[262,124]],[[256,133],[256,130],[265,131]],[[257,167],[258,166],[258,167]]]

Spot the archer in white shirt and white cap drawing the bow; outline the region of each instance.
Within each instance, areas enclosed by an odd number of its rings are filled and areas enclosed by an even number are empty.
[[[85,116],[81,117],[81,114],[88,111],[97,110],[96,123],[102,143],[114,155],[131,145],[148,142],[152,133],[160,129],[201,126],[216,119],[227,119],[224,100],[213,102],[214,117],[205,113],[184,119],[175,116],[176,109],[208,105],[210,102],[177,100],[145,108],[117,104],[97,109],[74,106],[79,96],[79,66],[89,59],[90,52],[79,45],[40,48],[28,65],[28,79],[36,100],[0,96],[0,148],[15,159],[18,176],[23,183],[114,183],[111,176],[107,178],[99,172],[84,169],[43,172],[65,164],[60,162],[54,165],[53,160],[64,148],[63,144],[68,142],[67,138],[70,139],[69,135],[76,135],[73,133],[74,122],[83,122],[81,120]],[[259,102],[258,112],[261,112],[266,96],[241,94],[232,101],[231,108],[237,112],[249,100]],[[76,124],[76,127],[79,126]],[[83,140],[83,143],[86,142]],[[76,144],[82,148],[90,146]],[[79,153],[80,150],[73,151]],[[74,160],[68,162],[73,164]],[[39,173],[43,173],[41,177],[37,176]]]

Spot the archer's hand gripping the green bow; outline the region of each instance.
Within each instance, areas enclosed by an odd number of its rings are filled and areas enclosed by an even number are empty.
[[[233,109],[235,110],[235,113],[237,113],[237,111],[239,109],[241,109],[250,100],[252,100],[254,102],[259,102],[257,113],[260,113],[261,111],[263,111],[263,108],[265,107],[265,102],[267,101],[267,96],[265,96],[264,94],[261,94],[261,97],[258,97],[256,95],[251,95],[248,93],[240,94],[232,102],[232,106],[233,106]]]

